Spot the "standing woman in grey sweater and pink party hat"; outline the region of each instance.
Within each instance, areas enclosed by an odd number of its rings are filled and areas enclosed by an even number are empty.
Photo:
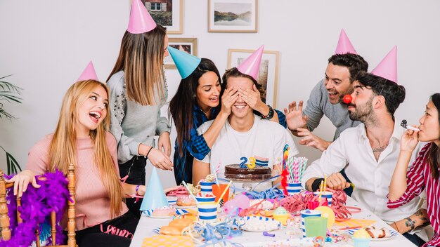
[[[163,69],[164,57],[169,55],[167,46],[167,30],[155,24],[139,0],[133,1],[129,28],[107,80],[110,132],[117,141],[119,173],[131,185],[145,185],[147,159],[163,170],[173,167],[170,126],[160,116],[168,93]],[[159,135],[157,148],[155,135]],[[127,206],[140,215],[141,203],[135,198],[127,199]]]

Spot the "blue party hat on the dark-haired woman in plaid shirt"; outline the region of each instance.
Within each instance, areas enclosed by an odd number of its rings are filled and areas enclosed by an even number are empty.
[[[202,61],[201,58],[190,55],[184,51],[179,51],[171,46],[168,46],[168,51],[173,58],[177,70],[179,70],[179,74],[182,76],[182,79],[185,79],[192,74],[199,66],[200,61]]]

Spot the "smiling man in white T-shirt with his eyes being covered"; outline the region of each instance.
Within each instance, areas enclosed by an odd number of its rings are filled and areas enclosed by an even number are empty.
[[[257,81],[242,74],[237,68],[229,69],[223,76],[226,90],[228,88],[242,88],[252,90],[253,86],[261,87]],[[280,124],[260,118],[252,113],[252,108],[247,105],[245,95],[239,94],[231,106],[225,126],[221,129],[219,137],[212,145],[211,152],[205,159],[194,159],[193,183],[204,179],[209,173],[214,173],[219,164],[219,178],[224,178],[224,167],[228,164],[241,163],[241,157],[260,157],[268,159],[268,167],[273,168],[277,159],[283,159],[283,148],[290,146],[289,156],[298,154],[297,147],[290,133]],[[212,121],[203,123],[198,128],[202,134],[211,126]],[[240,186],[235,184],[235,186]],[[268,189],[271,182],[259,185],[258,189]]]

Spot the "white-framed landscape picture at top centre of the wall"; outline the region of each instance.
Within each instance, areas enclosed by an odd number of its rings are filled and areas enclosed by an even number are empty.
[[[257,0],[208,0],[208,32],[257,32]]]

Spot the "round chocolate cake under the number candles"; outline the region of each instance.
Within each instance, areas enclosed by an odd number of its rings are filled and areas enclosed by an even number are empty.
[[[225,178],[232,180],[254,181],[271,178],[271,168],[255,166],[255,168],[240,168],[240,165],[225,166]]]

